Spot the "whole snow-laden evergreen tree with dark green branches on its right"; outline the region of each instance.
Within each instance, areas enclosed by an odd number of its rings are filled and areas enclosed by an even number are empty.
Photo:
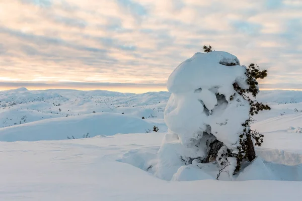
[[[164,115],[171,134],[163,141],[156,170],[164,179],[180,165],[209,162],[231,177],[243,161],[256,157],[252,138],[255,145],[263,142],[263,135],[250,129],[251,117],[270,108],[248,93],[256,97],[257,79],[267,71],[242,66],[236,56],[205,47],[206,53],[194,54],[168,79],[172,94]]]

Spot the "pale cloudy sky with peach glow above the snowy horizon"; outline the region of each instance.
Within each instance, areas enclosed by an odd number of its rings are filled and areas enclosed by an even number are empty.
[[[204,44],[302,89],[302,0],[1,0],[0,90],[164,90]]]

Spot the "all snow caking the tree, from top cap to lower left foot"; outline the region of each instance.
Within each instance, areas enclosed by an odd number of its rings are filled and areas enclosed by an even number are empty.
[[[158,177],[170,180],[172,172],[197,158],[207,162],[219,160],[219,165],[230,162],[228,172],[232,176],[237,165],[235,158],[206,157],[213,142],[223,144],[217,145],[221,156],[225,156],[222,152],[226,149],[238,153],[242,124],[249,119],[250,105],[233,84],[247,89],[245,73],[246,67],[240,65],[236,56],[218,51],[196,53],[172,72],[167,83],[172,94],[164,119],[176,137],[166,138],[159,150],[155,170]]]

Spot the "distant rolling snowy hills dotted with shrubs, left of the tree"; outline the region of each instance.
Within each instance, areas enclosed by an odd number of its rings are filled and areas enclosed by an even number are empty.
[[[31,91],[26,88],[0,91],[0,128],[103,112],[163,119],[169,96],[165,91],[143,94],[67,89]]]

